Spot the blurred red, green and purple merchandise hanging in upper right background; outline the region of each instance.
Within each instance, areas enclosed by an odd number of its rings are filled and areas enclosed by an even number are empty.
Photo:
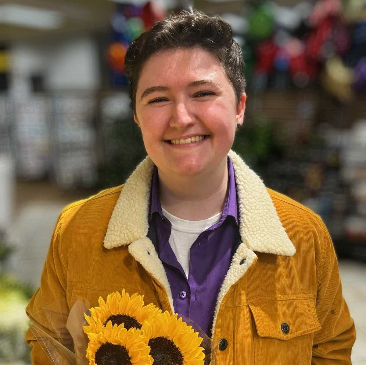
[[[245,5],[245,15],[224,14],[240,39],[249,88],[304,88],[320,81],[341,102],[366,91],[366,15],[357,2],[274,1]],[[360,15],[360,14],[358,14]]]

